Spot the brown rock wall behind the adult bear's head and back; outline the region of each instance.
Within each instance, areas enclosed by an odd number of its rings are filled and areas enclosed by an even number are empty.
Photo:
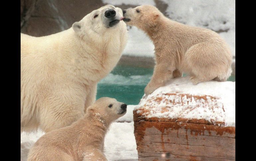
[[[165,13],[167,5],[160,0],[155,2]],[[101,0],[21,0],[21,33],[40,37],[61,32],[104,5]],[[123,4],[116,7],[136,6]]]

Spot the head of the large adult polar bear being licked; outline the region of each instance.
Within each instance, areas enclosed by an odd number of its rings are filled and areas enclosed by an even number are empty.
[[[105,5],[92,11],[81,21],[75,22],[72,25],[72,28],[77,33],[86,33],[89,30],[96,33],[104,33],[108,29],[116,28],[120,23],[124,24],[124,22],[120,22],[122,16],[123,13],[121,8]]]

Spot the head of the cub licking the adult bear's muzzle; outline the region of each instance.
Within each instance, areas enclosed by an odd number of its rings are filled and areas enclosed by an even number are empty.
[[[142,5],[132,9],[123,10],[123,21],[130,26],[142,30],[154,27],[161,12],[154,6]]]

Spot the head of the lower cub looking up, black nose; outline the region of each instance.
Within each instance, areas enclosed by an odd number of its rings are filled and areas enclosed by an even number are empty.
[[[115,121],[124,116],[126,114],[126,108],[126,104],[109,97],[102,97],[89,107],[95,114],[98,114],[108,122]]]

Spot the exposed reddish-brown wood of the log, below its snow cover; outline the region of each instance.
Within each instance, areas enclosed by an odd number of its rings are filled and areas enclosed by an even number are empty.
[[[204,98],[187,95],[189,97]],[[153,98],[156,99],[162,100]],[[139,161],[235,160],[235,127],[204,119],[147,117],[146,114],[154,110],[145,107],[133,111]]]

